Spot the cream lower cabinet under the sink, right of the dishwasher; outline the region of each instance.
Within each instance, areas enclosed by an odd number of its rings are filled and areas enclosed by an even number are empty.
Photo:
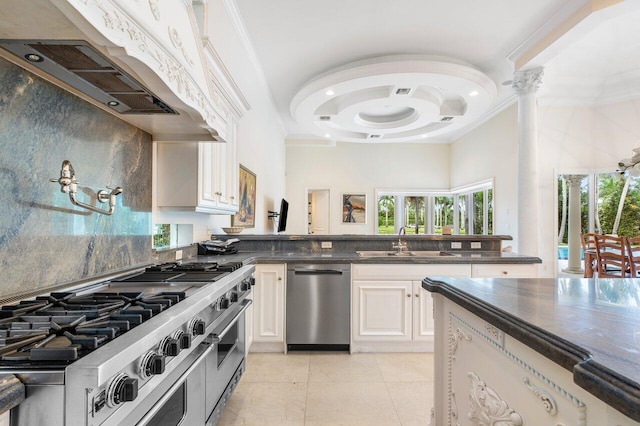
[[[470,277],[471,265],[354,264],[352,352],[433,351],[433,304],[427,276]]]

